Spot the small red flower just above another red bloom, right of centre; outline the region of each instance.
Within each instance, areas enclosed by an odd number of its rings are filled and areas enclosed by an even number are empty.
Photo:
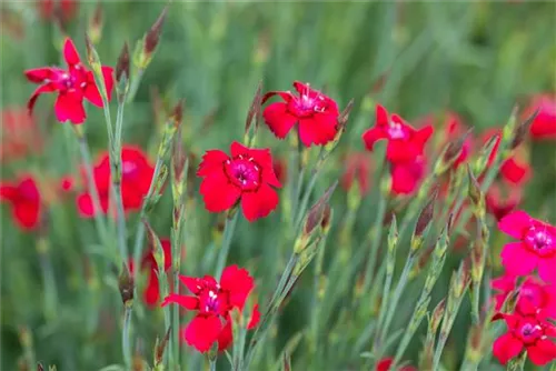
[[[388,118],[386,109],[377,104],[376,124],[363,134],[367,150],[373,151],[375,143],[388,140],[386,158],[394,163],[410,162],[423,156],[425,144],[433,134],[433,127],[416,130],[396,113]]]

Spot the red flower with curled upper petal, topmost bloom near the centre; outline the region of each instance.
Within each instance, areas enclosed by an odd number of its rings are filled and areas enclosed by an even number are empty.
[[[284,139],[298,123],[299,139],[305,147],[334,140],[338,132],[338,104],[308,83],[295,81],[294,88],[297,96],[290,91],[270,91],[262,98],[262,103],[274,96],[284,99],[284,102],[269,104],[262,112],[270,131]]]

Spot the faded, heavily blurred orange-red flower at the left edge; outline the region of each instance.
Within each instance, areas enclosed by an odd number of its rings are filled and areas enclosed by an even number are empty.
[[[42,139],[34,119],[26,109],[2,110],[0,129],[0,162],[6,163],[42,150]]]

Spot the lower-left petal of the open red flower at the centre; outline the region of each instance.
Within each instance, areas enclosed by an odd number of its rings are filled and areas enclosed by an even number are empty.
[[[241,195],[241,191],[228,181],[221,171],[211,172],[200,187],[205,208],[210,212],[221,212],[230,209]]]

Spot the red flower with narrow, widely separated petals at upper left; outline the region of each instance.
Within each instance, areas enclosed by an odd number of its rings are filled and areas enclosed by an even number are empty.
[[[27,70],[26,77],[29,81],[40,83],[29,99],[28,108],[32,112],[34,103],[40,94],[47,92],[58,92],[54,103],[54,112],[58,121],[71,121],[82,123],[86,119],[83,109],[83,98],[97,107],[102,107],[102,98],[95,83],[95,77],[81,63],[81,58],[71,39],[66,39],[63,44],[63,58],[68,64],[68,70],[57,67],[42,67]],[[108,99],[111,98],[113,77],[111,67],[102,67]]]

